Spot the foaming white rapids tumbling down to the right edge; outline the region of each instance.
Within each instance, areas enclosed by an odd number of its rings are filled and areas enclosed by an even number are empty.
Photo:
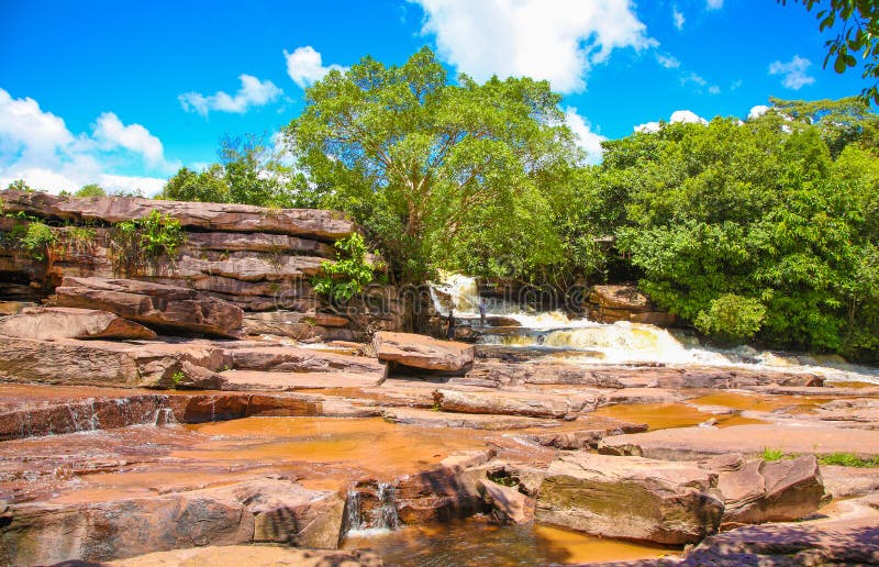
[[[433,285],[431,292],[437,312],[447,315],[450,300],[456,316],[478,316],[479,292],[475,278],[443,274],[442,281]],[[486,305],[488,316],[513,319],[522,331],[492,334],[490,329],[482,330],[486,332],[481,341],[483,344],[564,351],[566,356],[560,362],[567,364],[661,363],[783,367],[789,371],[821,374],[828,381],[879,385],[879,369],[848,364],[838,356],[760,352],[750,346],[709,348],[700,345],[694,337],[678,337],[655,325],[628,322],[603,324],[587,319],[569,319],[560,311],[527,312],[520,305],[491,299],[486,301]]]

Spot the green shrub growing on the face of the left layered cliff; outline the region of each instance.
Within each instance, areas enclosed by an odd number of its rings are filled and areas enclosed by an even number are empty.
[[[155,209],[143,219],[118,223],[109,238],[114,267],[130,275],[163,258],[173,262],[183,242],[179,221]]]

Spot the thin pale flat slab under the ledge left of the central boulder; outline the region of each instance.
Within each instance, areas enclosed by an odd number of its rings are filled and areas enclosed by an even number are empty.
[[[235,391],[291,391],[325,388],[367,388],[381,383],[381,374],[327,373],[266,373],[260,370],[227,370],[221,373],[223,390]]]

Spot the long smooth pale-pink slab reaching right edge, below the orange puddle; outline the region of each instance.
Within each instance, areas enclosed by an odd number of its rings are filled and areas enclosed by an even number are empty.
[[[875,431],[831,425],[734,425],[730,427],[680,427],[607,437],[599,452],[659,459],[698,459],[706,455],[742,453],[756,456],[764,449],[794,455],[854,453],[879,455]]]

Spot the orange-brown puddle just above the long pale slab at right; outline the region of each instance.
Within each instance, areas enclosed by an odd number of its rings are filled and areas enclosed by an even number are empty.
[[[685,403],[641,403],[633,405],[605,405],[591,415],[612,418],[630,423],[646,423],[650,430],[671,427],[692,427],[709,420],[715,420],[717,427],[765,423],[760,420],[742,418],[737,413],[712,415]]]

